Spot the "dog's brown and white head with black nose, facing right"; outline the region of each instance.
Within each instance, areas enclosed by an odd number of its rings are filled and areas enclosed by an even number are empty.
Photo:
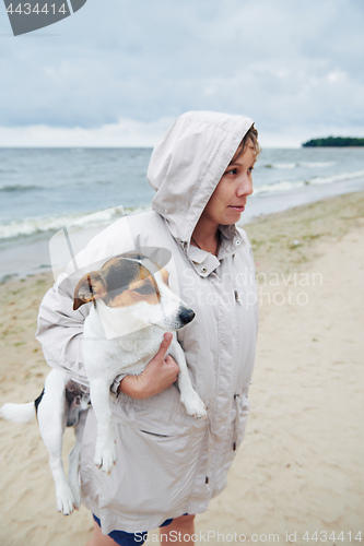
[[[154,324],[166,331],[179,330],[195,312],[169,288],[168,277],[167,271],[146,256],[126,252],[80,278],[73,309],[97,301],[115,320],[122,316],[124,322],[129,318],[141,328]]]

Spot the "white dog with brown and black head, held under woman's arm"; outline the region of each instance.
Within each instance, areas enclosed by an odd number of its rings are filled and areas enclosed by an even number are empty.
[[[195,312],[169,288],[165,269],[138,252],[117,256],[79,280],[73,310],[90,302],[82,340],[90,389],[71,380],[66,370],[54,369],[35,402],[4,404],[0,410],[1,417],[16,423],[36,414],[49,453],[57,509],[64,515],[81,505],[79,465],[86,411],[92,405],[97,419],[94,463],[109,474],[116,461],[110,385],[120,375],[141,373],[158,352],[165,332],[173,332],[168,353],[179,366],[180,402],[188,415],[207,416],[176,337],[176,331],[189,324]],[[61,455],[66,427],[74,427],[75,432],[68,479]]]

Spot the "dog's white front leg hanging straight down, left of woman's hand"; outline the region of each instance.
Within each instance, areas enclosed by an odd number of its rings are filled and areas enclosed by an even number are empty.
[[[97,419],[94,463],[110,474],[116,461],[114,422],[109,404],[110,387],[104,380],[90,380],[90,396]]]

